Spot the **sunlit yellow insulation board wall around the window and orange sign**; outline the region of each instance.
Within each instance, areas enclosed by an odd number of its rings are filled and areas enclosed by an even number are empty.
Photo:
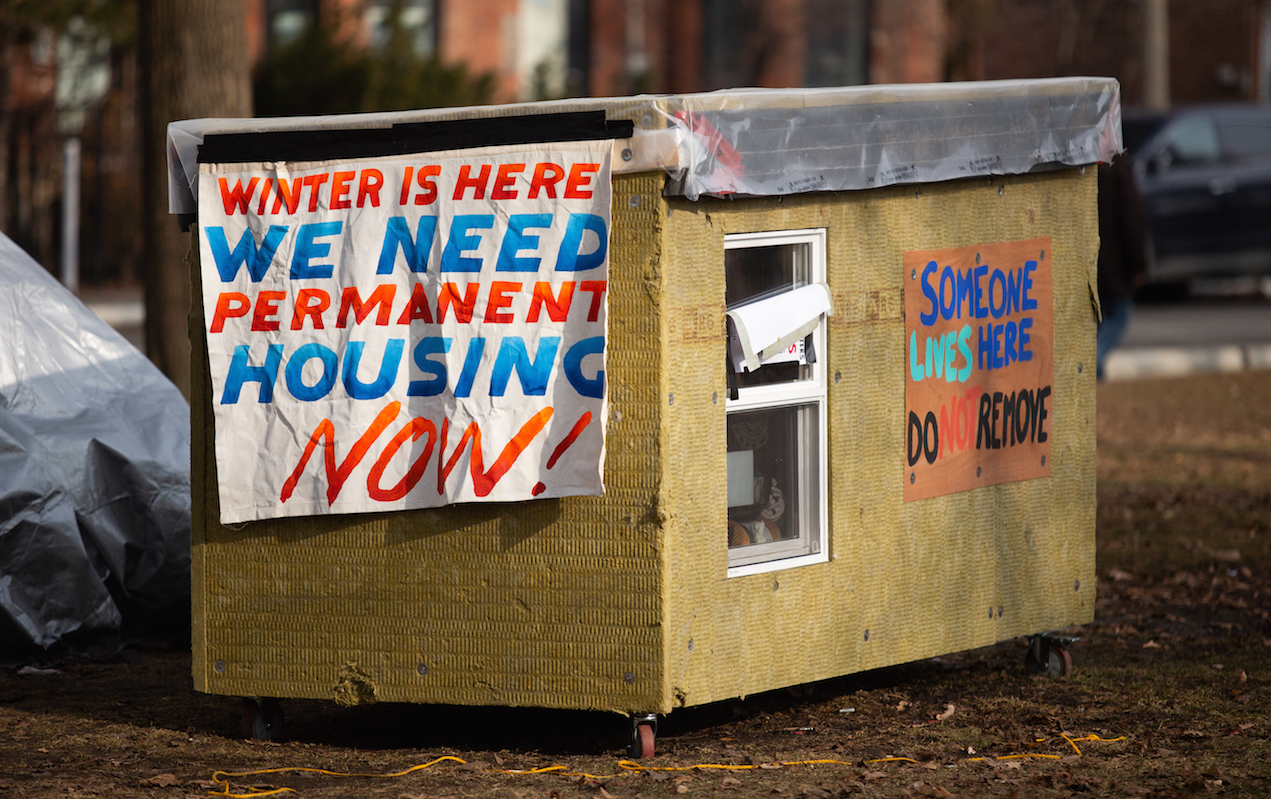
[[[727,577],[727,234],[825,229],[829,561]],[[1051,476],[902,502],[902,255],[1052,238]],[[1082,624],[1094,608],[1094,169],[671,201],[666,673],[695,705]]]

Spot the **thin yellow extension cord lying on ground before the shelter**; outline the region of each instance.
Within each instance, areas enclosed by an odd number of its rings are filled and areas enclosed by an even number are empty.
[[[1099,742],[1099,743],[1117,743],[1120,741],[1125,741],[1125,735],[1121,735],[1118,738],[1099,738],[1094,733],[1091,733],[1089,735],[1084,735],[1082,738],[1069,738],[1064,733],[1060,733],[1060,737],[1064,741],[1068,742],[1068,746],[1073,747],[1073,751],[1077,752],[1078,757],[1082,756],[1082,749],[1078,748],[1078,746],[1077,746],[1078,741],[1094,741],[1094,742]],[[1046,738],[1037,738],[1035,741],[1035,743],[1046,743]],[[986,761],[986,760],[1018,760],[1018,758],[1027,758],[1027,757],[1041,758],[1041,760],[1063,760],[1063,756],[1060,756],[1060,755],[1024,753],[1024,755],[1000,755],[1000,756],[996,756],[996,757],[969,757],[966,760],[966,762],[977,762],[977,761]],[[289,774],[289,772],[291,772],[291,774],[322,774],[322,775],[333,776],[333,777],[393,779],[393,777],[402,777],[402,776],[405,776],[405,775],[408,775],[411,772],[421,771],[423,769],[428,769],[431,766],[435,766],[437,763],[446,762],[446,761],[455,762],[455,763],[459,763],[461,766],[464,766],[464,765],[468,763],[468,761],[465,761],[463,758],[452,757],[450,755],[446,755],[444,757],[438,757],[436,760],[428,761],[426,763],[421,763],[418,766],[411,766],[405,771],[394,771],[391,774],[358,774],[358,772],[355,772],[355,771],[329,771],[327,769],[311,769],[311,767],[306,767],[306,766],[282,766],[282,767],[278,767],[278,769],[258,769],[255,771],[216,771],[216,772],[212,774],[212,782],[215,782],[216,785],[220,785],[221,789],[220,790],[212,790],[212,791],[208,791],[208,793],[211,793],[215,796],[229,796],[230,799],[255,799],[257,796],[272,796],[275,794],[296,793],[296,790],[294,788],[275,788],[275,789],[271,789],[271,790],[255,790],[255,791],[252,791],[249,794],[234,794],[234,793],[230,793],[231,785],[230,785],[229,779],[230,777],[261,776],[261,775],[266,775],[266,774]],[[866,762],[866,765],[873,765],[873,763],[892,763],[892,762],[916,763],[919,761],[916,761],[916,760],[914,760],[911,757],[877,757],[877,758],[873,758],[873,760],[867,760],[864,762]],[[594,774],[586,774],[586,772],[582,772],[582,771],[568,771],[564,766],[543,766],[541,769],[491,769],[491,772],[493,772],[493,774],[512,774],[512,775],[522,775],[522,774],[558,774],[558,775],[566,776],[566,777],[585,777],[585,779],[588,779],[588,780],[611,780],[611,779],[615,779],[615,777],[619,777],[619,776],[627,776],[627,775],[630,775],[630,774],[639,774],[642,771],[695,771],[695,770],[703,770],[703,769],[717,769],[717,770],[721,770],[721,771],[746,771],[746,770],[751,770],[751,769],[764,769],[765,766],[769,767],[769,769],[771,769],[774,766],[775,767],[784,767],[784,766],[821,766],[821,765],[855,766],[857,763],[843,761],[843,760],[794,760],[794,761],[782,761],[782,762],[777,762],[777,763],[760,763],[760,765],[750,765],[750,766],[732,766],[732,765],[727,765],[727,763],[697,763],[694,766],[642,766],[642,765],[637,763],[636,761],[620,760],[620,761],[618,761],[618,767],[622,769],[622,771],[619,774],[611,774],[611,775],[604,775],[604,776],[599,776],[599,775],[594,775]]]

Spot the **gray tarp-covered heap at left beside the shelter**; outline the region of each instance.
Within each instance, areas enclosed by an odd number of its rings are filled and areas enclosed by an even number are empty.
[[[0,661],[188,624],[189,405],[0,232]]]

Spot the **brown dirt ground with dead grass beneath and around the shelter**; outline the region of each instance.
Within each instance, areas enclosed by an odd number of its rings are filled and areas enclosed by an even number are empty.
[[[1099,389],[1098,602],[1064,678],[1004,641],[676,711],[632,770],[604,714],[287,701],[282,743],[240,741],[188,653],[144,652],[0,669],[0,796],[1267,796],[1268,399],[1271,372]]]

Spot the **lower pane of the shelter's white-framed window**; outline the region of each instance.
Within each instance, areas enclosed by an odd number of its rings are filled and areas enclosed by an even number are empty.
[[[815,551],[817,404],[735,412],[727,424],[728,546]]]

